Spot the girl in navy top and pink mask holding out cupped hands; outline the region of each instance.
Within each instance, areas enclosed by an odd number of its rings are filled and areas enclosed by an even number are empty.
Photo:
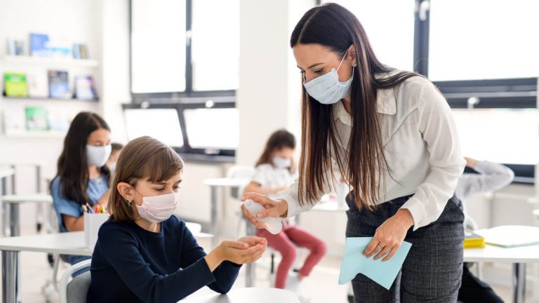
[[[122,149],[111,183],[111,218],[93,251],[89,303],[178,302],[206,285],[225,293],[241,264],[260,258],[266,241],[255,236],[204,253],[173,215],[182,169],[180,156],[151,137]]]

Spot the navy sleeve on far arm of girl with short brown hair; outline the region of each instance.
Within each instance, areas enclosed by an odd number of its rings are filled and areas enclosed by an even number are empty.
[[[181,267],[189,267],[199,260],[202,260],[206,264],[206,260],[203,259],[206,256],[204,249],[200,247],[193,234],[191,234],[191,231],[185,226],[185,222],[181,222],[181,226],[183,227]],[[221,294],[229,292],[232,285],[234,285],[234,281],[236,281],[240,268],[241,265],[239,264],[229,261],[222,262],[213,271],[215,281],[209,284],[208,287]]]

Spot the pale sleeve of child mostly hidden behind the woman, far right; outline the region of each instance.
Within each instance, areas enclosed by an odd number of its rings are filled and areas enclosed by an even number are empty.
[[[498,163],[478,161],[474,170],[479,174],[469,174],[458,181],[458,198],[465,199],[472,194],[495,191],[510,184],[513,171]]]

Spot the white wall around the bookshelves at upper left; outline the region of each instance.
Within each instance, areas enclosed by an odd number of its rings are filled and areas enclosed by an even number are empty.
[[[25,40],[27,50],[29,34],[33,32],[49,34],[51,39],[65,41],[68,45],[86,43],[91,58],[100,60],[102,57],[101,20],[100,1],[0,0],[0,58],[6,55],[7,39]],[[0,67],[2,74],[8,70],[26,72],[27,68],[23,65]],[[42,72],[46,72],[46,68]],[[100,75],[94,76],[99,89]],[[0,97],[0,111],[3,113],[0,123],[4,124],[4,114],[21,110],[26,106],[60,108],[71,114],[79,111],[99,112],[97,102],[6,100]],[[0,163],[38,162],[44,165],[44,175],[53,175],[62,142],[62,137],[6,137],[4,132],[0,132]],[[18,192],[34,191],[34,176],[24,167],[20,170]]]

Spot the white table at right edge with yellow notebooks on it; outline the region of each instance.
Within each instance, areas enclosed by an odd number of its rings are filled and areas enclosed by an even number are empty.
[[[512,263],[512,302],[522,303],[526,294],[526,263],[539,262],[539,245],[517,248],[486,245],[485,248],[467,248],[464,250],[464,262]]]

